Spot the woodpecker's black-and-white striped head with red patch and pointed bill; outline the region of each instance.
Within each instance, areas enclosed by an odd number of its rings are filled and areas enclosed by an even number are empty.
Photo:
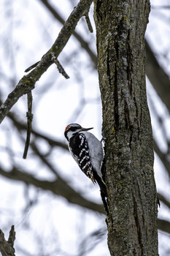
[[[93,129],[93,127],[82,128],[80,124],[69,124],[65,129],[64,136],[66,137],[67,140],[69,140],[70,138],[72,138],[72,136],[76,135],[78,132],[88,131],[89,129]]]

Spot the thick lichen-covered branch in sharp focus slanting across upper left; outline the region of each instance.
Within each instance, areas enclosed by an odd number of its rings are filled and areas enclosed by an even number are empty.
[[[47,68],[54,63],[54,54],[55,58],[58,58],[59,54],[71,37],[75,27],[77,26],[77,22],[83,15],[85,15],[86,12],[88,12],[91,3],[92,0],[80,0],[77,7],[74,8],[71,15],[69,15],[69,18],[66,20],[66,23],[58,34],[58,38],[55,40],[52,48],[45,53],[41,61],[39,61],[39,63],[36,65],[35,69],[32,70],[28,75],[24,76],[12,93],[8,95],[6,101],[1,105],[0,108],[0,124],[18,99],[23,96],[23,94],[28,94],[29,91],[34,89],[36,81],[39,80]]]

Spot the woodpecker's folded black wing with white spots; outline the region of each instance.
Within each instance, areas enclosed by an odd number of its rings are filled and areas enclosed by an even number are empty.
[[[78,133],[69,140],[69,150],[72,153],[72,157],[74,157],[75,161],[80,166],[82,172],[95,183],[96,181],[93,177],[93,167],[90,160],[88,142],[83,133]]]

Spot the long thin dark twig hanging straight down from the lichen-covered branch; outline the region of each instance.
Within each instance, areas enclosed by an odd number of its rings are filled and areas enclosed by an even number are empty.
[[[26,113],[27,116],[27,135],[26,135],[26,145],[23,152],[23,159],[26,159],[28,153],[28,147],[31,138],[31,127],[32,127],[32,120],[33,120],[33,113],[32,113],[32,93],[31,91],[27,94],[27,102],[28,102],[28,112]]]

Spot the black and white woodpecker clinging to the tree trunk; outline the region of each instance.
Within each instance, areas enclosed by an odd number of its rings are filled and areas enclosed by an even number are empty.
[[[64,135],[69,143],[69,151],[83,173],[94,183],[98,183],[102,195],[107,197],[107,188],[104,184],[101,165],[104,158],[101,142],[80,124],[69,124]]]

